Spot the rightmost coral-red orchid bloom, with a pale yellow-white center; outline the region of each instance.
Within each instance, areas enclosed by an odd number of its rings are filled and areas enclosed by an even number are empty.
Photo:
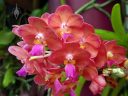
[[[107,50],[108,66],[119,65],[125,60],[126,49],[122,46],[118,46],[116,41],[105,42],[105,48]]]

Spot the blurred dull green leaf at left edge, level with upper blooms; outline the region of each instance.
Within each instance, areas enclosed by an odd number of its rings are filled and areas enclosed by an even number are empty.
[[[12,32],[0,32],[0,46],[6,46],[14,39]]]

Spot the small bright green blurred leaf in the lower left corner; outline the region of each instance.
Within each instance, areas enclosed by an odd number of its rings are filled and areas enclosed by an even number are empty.
[[[4,75],[3,79],[3,87],[8,87],[10,83],[12,83],[14,80],[13,70],[12,68],[9,68]]]

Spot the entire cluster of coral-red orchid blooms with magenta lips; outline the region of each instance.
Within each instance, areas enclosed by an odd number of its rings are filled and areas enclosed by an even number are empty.
[[[107,83],[106,75],[98,70],[128,63],[125,48],[102,40],[68,5],[52,14],[29,17],[28,24],[15,25],[12,31],[22,39],[9,47],[23,63],[17,74],[34,75],[35,83],[52,88],[53,96],[75,96],[80,76],[91,81],[94,94],[100,93]]]

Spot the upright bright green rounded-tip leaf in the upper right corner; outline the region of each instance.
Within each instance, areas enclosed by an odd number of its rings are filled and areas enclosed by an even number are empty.
[[[121,20],[121,12],[120,12],[119,4],[115,4],[114,7],[112,8],[111,23],[115,33],[118,36],[122,37],[123,35],[125,35],[124,26]]]

